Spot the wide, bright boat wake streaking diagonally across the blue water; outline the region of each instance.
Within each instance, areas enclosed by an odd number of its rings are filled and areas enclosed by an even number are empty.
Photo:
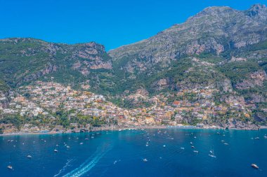
[[[70,171],[70,173],[65,174],[64,177],[79,177],[87,172],[89,172],[97,163],[98,161],[106,154],[109,150],[111,150],[111,146],[108,144],[104,144],[100,148],[96,150],[96,153],[86,160],[83,164],[81,164],[77,169]]]

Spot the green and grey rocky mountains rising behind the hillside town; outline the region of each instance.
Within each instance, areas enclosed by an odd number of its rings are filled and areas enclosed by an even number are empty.
[[[103,94],[124,108],[149,107],[155,96],[171,105],[181,100],[177,92],[187,90],[189,105],[204,105],[207,100],[195,93],[213,90],[208,102],[226,107],[239,102],[255,120],[266,122],[266,12],[259,4],[248,10],[208,7],[182,24],[109,52],[95,42],[1,39],[0,89],[6,97],[6,90],[37,80],[56,82]]]

